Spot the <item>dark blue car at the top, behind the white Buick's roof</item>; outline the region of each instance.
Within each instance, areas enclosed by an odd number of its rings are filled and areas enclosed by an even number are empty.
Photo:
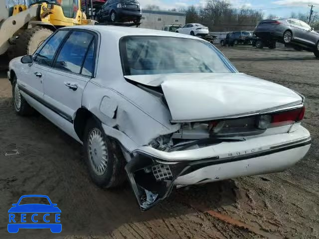
[[[99,22],[126,22],[139,23],[142,17],[142,9],[137,0],[108,0],[96,13]]]

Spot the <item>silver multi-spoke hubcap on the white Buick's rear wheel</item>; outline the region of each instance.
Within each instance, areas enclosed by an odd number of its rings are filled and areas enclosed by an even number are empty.
[[[89,134],[88,156],[96,175],[103,175],[107,169],[108,148],[100,129],[94,128]]]

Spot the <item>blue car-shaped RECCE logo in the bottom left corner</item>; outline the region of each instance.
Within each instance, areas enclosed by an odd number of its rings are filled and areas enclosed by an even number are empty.
[[[28,203],[30,200],[42,200],[45,203]],[[24,195],[9,209],[8,232],[17,233],[19,229],[50,229],[52,233],[60,233],[61,210],[45,195]],[[20,215],[19,215],[20,214]]]

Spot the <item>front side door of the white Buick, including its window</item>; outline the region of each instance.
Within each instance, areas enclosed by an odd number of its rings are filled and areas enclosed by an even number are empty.
[[[42,103],[43,80],[45,73],[53,62],[54,55],[66,36],[67,31],[58,31],[48,38],[33,54],[32,64],[22,64],[23,77],[17,83],[21,91]]]

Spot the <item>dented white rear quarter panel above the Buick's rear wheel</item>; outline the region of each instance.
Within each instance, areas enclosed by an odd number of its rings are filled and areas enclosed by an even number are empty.
[[[111,107],[103,106],[105,99],[112,102]],[[169,122],[169,111],[157,97],[121,78],[109,88],[97,85],[94,81],[89,82],[83,94],[82,105],[102,123],[112,127],[113,131],[123,132],[135,142],[136,148],[147,145],[160,135],[175,132],[180,127],[178,123]],[[109,112],[103,113],[101,109]],[[117,138],[116,134],[113,137]],[[123,137],[121,134],[117,139],[128,151],[136,149],[132,144],[128,147]]]

